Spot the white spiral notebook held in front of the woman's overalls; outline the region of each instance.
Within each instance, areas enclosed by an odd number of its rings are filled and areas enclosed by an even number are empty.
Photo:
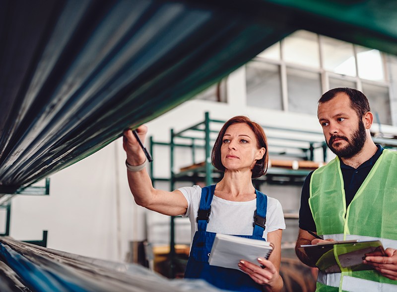
[[[267,259],[272,250],[272,244],[265,240],[216,234],[208,263],[211,266],[236,270],[239,270],[238,263],[240,260],[259,266],[258,257]]]

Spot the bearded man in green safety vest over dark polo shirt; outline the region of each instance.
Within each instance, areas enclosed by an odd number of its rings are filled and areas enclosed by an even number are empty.
[[[355,89],[325,93],[317,114],[327,145],[337,157],[306,178],[296,254],[314,267],[299,246],[380,239],[387,256],[363,259],[374,270],[319,271],[317,291],[397,291],[397,152],[372,141],[373,114],[367,97]]]

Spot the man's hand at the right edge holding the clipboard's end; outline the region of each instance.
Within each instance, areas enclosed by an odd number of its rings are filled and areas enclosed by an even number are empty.
[[[364,264],[374,267],[379,273],[391,280],[397,280],[397,250],[387,248],[385,256],[367,256]]]

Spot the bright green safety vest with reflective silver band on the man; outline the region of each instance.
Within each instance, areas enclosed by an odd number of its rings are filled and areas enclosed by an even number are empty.
[[[385,149],[346,209],[343,177],[336,157],[310,181],[310,209],[325,239],[381,240],[397,249],[397,152]],[[323,273],[316,291],[397,291],[397,281],[375,270]]]

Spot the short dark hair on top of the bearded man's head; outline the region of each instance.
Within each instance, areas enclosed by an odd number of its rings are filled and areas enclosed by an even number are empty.
[[[327,102],[341,92],[350,98],[350,105],[357,112],[358,117],[361,118],[368,111],[371,111],[367,97],[362,92],[348,87],[329,90],[319,99],[319,103]]]

